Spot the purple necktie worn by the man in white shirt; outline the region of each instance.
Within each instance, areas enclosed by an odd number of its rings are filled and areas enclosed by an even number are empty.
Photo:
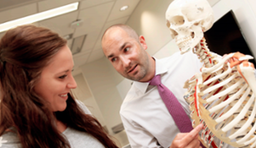
[[[158,88],[158,92],[167,107],[170,115],[172,115],[174,122],[179,128],[181,133],[188,133],[193,130],[191,121],[181,106],[180,102],[174,96],[174,94],[161,83],[161,76],[156,75],[151,81],[150,85],[155,85]]]

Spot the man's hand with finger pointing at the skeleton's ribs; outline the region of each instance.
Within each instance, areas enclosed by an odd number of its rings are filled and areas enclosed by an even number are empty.
[[[189,133],[179,133],[174,138],[172,145],[169,148],[183,148],[183,147],[201,147],[198,139],[198,133],[203,129],[203,125],[198,125]]]

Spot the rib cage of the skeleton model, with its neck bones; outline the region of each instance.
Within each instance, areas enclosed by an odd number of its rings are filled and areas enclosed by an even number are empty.
[[[234,147],[255,147],[256,102],[251,86],[238,70],[241,62],[225,63],[232,60],[233,53],[223,59],[206,58],[200,49],[197,47],[195,52],[205,65],[184,85],[188,88],[184,98],[190,104],[193,127],[204,124],[200,137],[207,147],[222,147],[223,142]]]

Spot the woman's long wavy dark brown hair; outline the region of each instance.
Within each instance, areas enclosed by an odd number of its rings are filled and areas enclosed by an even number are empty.
[[[105,147],[117,147],[100,123],[85,114],[68,94],[67,108],[51,112],[34,86],[41,71],[59,49],[67,44],[58,34],[44,27],[23,25],[10,29],[0,40],[0,135],[16,129],[23,147],[70,147],[56,128],[55,118],[84,131]]]

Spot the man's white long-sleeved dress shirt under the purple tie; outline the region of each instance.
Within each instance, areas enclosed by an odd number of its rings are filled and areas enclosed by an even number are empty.
[[[183,99],[184,82],[198,73],[202,63],[189,51],[156,61],[156,75],[176,96],[187,115],[190,110]],[[132,147],[168,147],[180,132],[173,117],[165,107],[157,86],[134,81],[120,110],[121,119]]]

